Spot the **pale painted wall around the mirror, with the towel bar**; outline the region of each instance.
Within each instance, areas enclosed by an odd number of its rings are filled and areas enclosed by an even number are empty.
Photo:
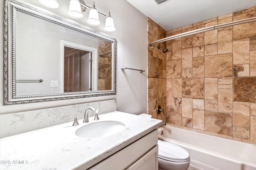
[[[31,104],[19,104],[14,106],[2,106],[2,93],[0,98],[0,114],[16,113],[20,111],[30,111],[58,106],[68,106],[74,104],[96,102],[101,100],[117,99],[117,110],[128,113],[146,113],[147,111],[147,72],[140,73],[134,70],[120,70],[121,66],[147,69],[147,19],[142,13],[134,8],[126,0],[85,0],[88,6],[95,2],[98,11],[107,14],[110,10],[114,19],[116,31],[104,31],[105,18],[99,16],[101,25],[91,26],[86,23],[89,12],[84,13],[82,19],[72,19],[67,15],[69,0],[57,0],[60,4],[58,9],[50,9],[42,6],[37,0],[19,0],[22,3],[30,4],[34,7],[45,10],[46,12],[55,13],[56,16],[65,18],[80,25],[89,27],[98,32],[110,35],[117,40],[116,52],[116,95],[101,96],[92,98],[80,98],[72,100],[59,100],[52,102],[41,102]],[[2,9],[2,3],[1,3]],[[2,11],[1,11],[2,12]],[[2,17],[1,17],[2,27]],[[2,34],[0,35],[2,37]],[[3,37],[2,37],[3,39]],[[2,53],[2,41],[0,43],[0,52]],[[2,62],[0,62],[2,68]],[[1,78],[2,82],[2,71]],[[0,85],[2,89],[2,83]]]

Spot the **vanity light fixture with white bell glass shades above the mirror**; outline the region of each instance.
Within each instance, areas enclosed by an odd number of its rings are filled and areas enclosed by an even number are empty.
[[[49,8],[53,8],[48,5],[50,2],[52,4],[54,3],[58,4],[57,0],[39,0],[39,2]],[[55,8],[58,8],[58,6],[56,6]],[[85,12],[86,8],[90,9],[88,20],[86,20],[87,23],[89,23],[90,25],[100,25],[100,21],[99,21],[99,14],[100,14],[106,17],[104,30],[109,32],[116,30],[114,26],[114,20],[110,16],[110,11],[108,12],[108,15],[104,15],[101,12],[98,12],[95,8],[94,2],[92,7],[89,7],[84,3],[83,0],[70,0],[68,15],[72,18],[83,18],[82,12]]]

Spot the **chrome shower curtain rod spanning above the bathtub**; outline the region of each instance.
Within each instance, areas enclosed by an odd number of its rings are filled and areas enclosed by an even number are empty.
[[[241,23],[247,23],[247,22],[252,22],[252,21],[256,21],[256,17],[248,18],[248,19],[244,19],[244,20],[232,21],[232,22],[228,22],[228,23],[222,23],[222,24],[219,24],[219,25],[213,25],[213,26],[209,26],[209,27],[195,29],[193,31],[180,33],[180,34],[177,34],[177,35],[172,35],[170,37],[166,37],[166,38],[163,38],[163,39],[153,41],[153,42],[149,43],[149,45],[151,46],[151,48],[153,48],[154,44],[162,43],[164,41],[168,41],[168,40],[171,40],[171,39],[176,39],[176,38],[180,38],[180,37],[185,37],[187,35],[193,35],[193,34],[196,34],[196,33],[202,33],[202,32],[205,32],[205,31],[211,31],[211,30],[214,30],[214,29],[230,27],[230,26],[233,26],[233,25],[238,25],[238,24],[241,24]]]

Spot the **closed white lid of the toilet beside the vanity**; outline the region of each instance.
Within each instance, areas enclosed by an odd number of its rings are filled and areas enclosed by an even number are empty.
[[[170,142],[158,140],[158,157],[172,162],[187,162],[190,160],[188,152]]]

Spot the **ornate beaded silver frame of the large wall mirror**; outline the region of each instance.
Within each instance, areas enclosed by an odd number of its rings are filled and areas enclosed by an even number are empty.
[[[54,22],[56,24],[92,35],[112,42],[112,89],[90,92],[71,92],[58,94],[42,94],[30,96],[16,96],[15,76],[15,15],[16,10]],[[3,105],[26,104],[75,98],[88,98],[116,94],[116,39],[77,25],[62,18],[53,16],[36,8],[27,6],[15,0],[3,1]]]

